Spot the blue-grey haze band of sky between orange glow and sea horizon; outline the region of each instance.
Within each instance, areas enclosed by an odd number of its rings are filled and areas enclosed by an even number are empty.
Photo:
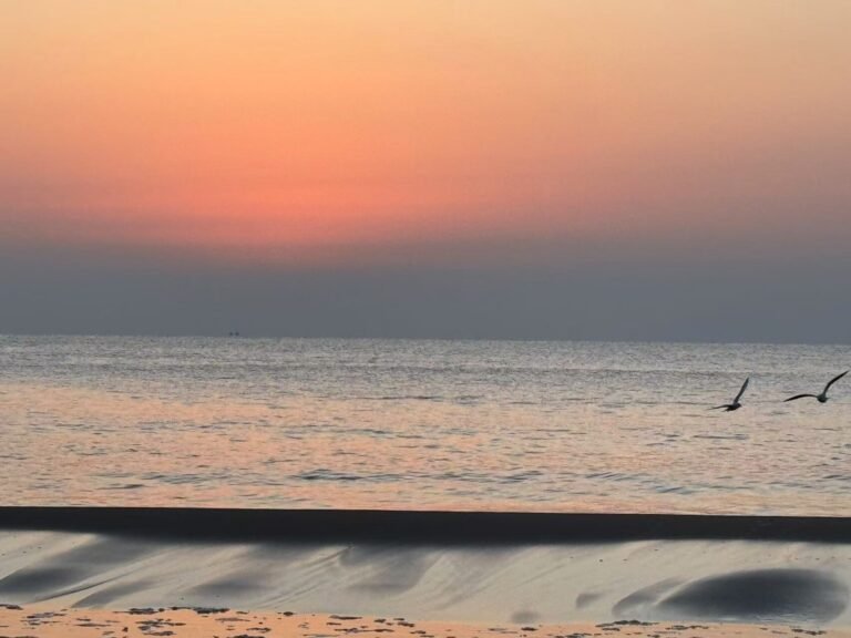
[[[0,257],[0,331],[851,342],[851,256],[295,270]]]

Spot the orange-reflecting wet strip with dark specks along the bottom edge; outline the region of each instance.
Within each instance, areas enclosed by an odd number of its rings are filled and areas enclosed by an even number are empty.
[[[172,636],[174,638],[336,638],[367,635],[404,638],[761,638],[824,636],[848,638],[850,631],[771,625],[720,624],[572,624],[488,625],[411,621],[342,615],[256,613],[230,609],[0,609],[0,637],[107,638]]]

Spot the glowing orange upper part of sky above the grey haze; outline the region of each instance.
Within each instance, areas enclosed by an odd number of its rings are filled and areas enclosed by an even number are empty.
[[[830,245],[849,24],[842,0],[7,0],[3,240]]]

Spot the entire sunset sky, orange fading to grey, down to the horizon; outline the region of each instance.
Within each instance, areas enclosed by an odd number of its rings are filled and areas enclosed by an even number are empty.
[[[849,23],[0,0],[0,332],[851,342]]]

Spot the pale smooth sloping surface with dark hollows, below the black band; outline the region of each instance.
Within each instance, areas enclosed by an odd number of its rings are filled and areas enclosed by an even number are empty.
[[[849,627],[851,545],[230,543],[0,532],[0,601],[229,607],[466,622]]]

